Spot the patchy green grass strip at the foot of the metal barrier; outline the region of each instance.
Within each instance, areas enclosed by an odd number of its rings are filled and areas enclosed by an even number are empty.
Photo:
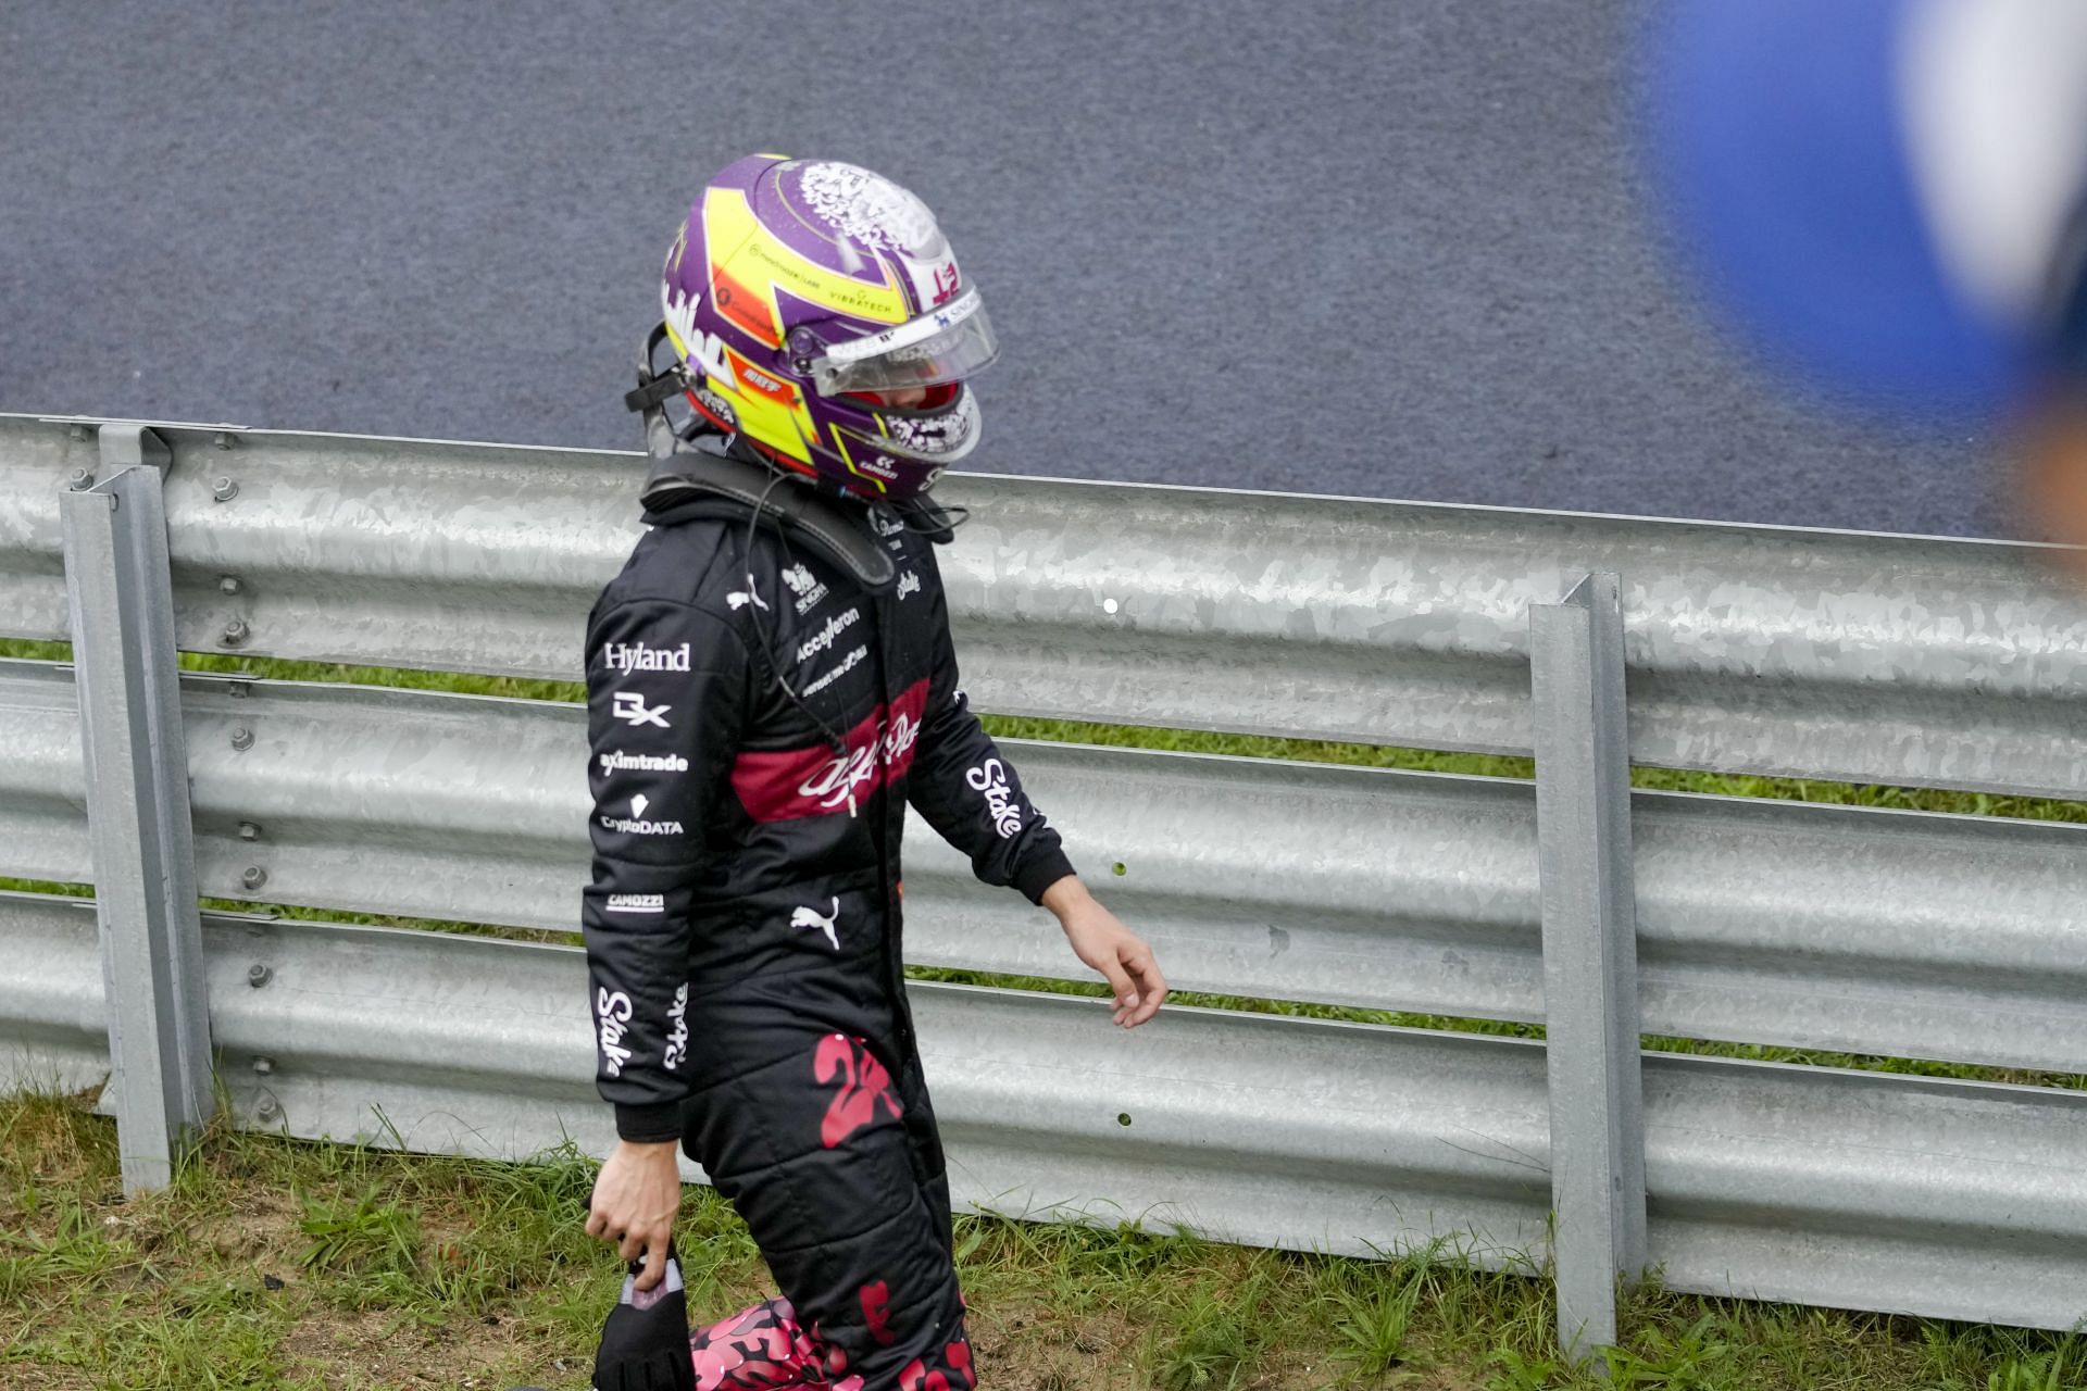
[[[586,1385],[620,1268],[582,1233],[595,1166],[570,1149],[490,1164],[219,1124],[123,1201],[83,1097],[4,1099],[0,1130],[0,1387]],[[1601,1383],[1559,1366],[1540,1278],[1446,1243],[1344,1260],[993,1216],[956,1241],[1004,1391],[2049,1391],[2087,1368],[2072,1337],[1651,1287]],[[687,1191],[678,1245],[699,1316],[768,1293],[716,1193]]]

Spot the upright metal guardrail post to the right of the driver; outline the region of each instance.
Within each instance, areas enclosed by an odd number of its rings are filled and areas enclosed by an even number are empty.
[[[1615,1343],[1645,1270],[1645,1097],[1617,578],[1530,605],[1559,1347]]]

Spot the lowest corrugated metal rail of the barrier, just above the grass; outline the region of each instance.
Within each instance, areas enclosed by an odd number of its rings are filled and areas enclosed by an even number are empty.
[[[92,905],[0,895],[0,936],[38,963],[0,989],[0,1039],[33,1030],[79,1068]],[[576,949],[211,916],[205,957],[244,1124],[493,1157],[611,1139]],[[1204,1009],[1123,1039],[1096,1001],[912,997],[964,1205],[1344,1253],[1444,1237],[1486,1264],[1544,1247],[1538,1043]],[[2087,1316],[2087,1095],[1655,1053],[1645,1118],[1672,1289]]]

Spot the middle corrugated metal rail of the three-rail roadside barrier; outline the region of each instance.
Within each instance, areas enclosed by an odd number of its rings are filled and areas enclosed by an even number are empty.
[[[574,928],[584,709],[190,676],[184,722],[207,897]],[[1530,782],[1006,747],[1179,989],[1542,1022]],[[0,661],[0,870],[92,878],[61,667]],[[2087,1072],[2087,826],[1632,805],[1649,1032]],[[1048,918],[908,817],[912,963],[1079,972]]]

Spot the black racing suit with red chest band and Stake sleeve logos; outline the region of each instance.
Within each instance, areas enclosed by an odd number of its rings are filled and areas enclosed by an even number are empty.
[[[749,515],[647,511],[589,617],[597,1087],[620,1137],[678,1139],[733,1199],[831,1372],[958,1391],[906,805],[1031,901],[1073,868],[958,690],[920,513],[847,513],[897,561],[885,594]]]

